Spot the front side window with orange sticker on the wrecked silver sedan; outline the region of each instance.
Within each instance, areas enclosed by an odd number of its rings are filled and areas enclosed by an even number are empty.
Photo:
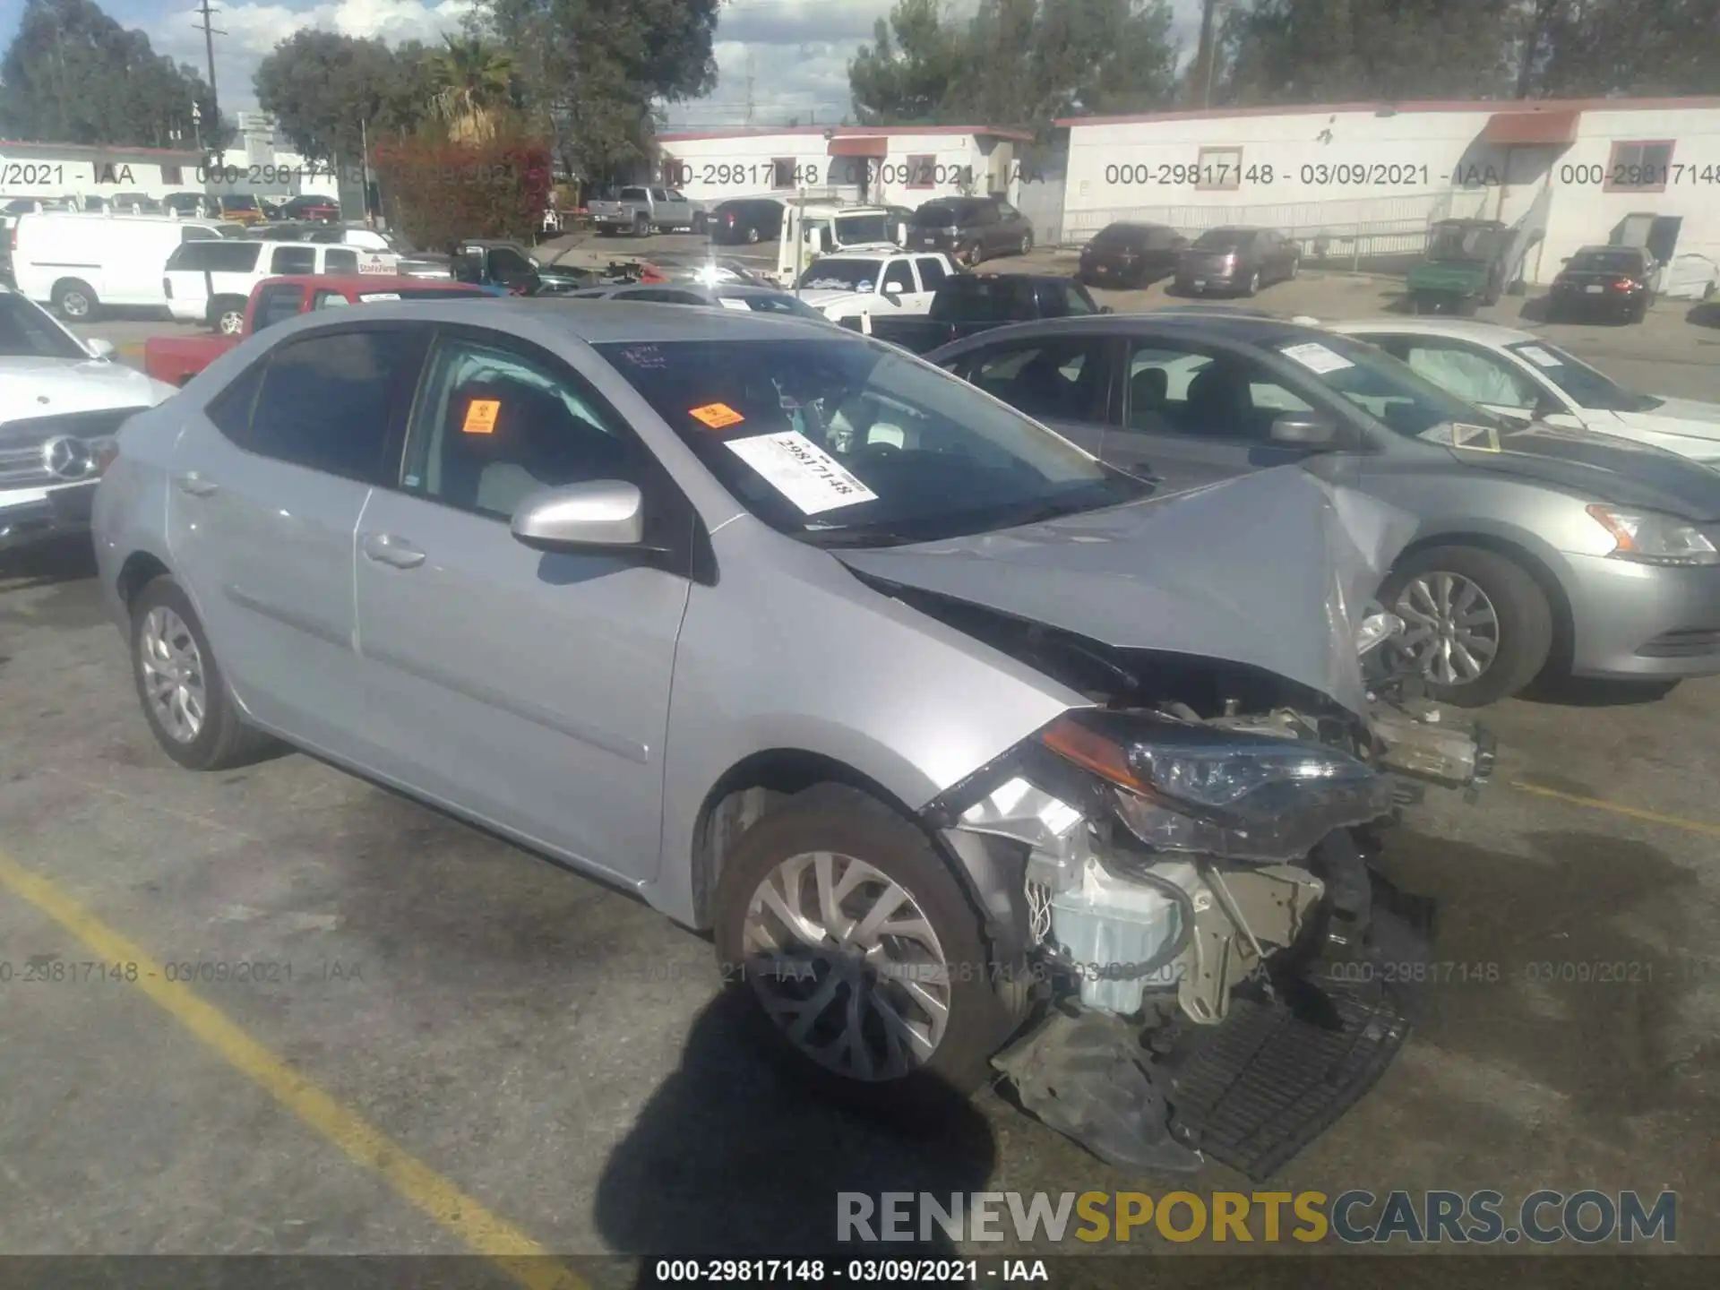
[[[507,519],[542,488],[640,482],[640,452],[621,418],[571,370],[513,346],[456,337],[430,356],[402,482]]]

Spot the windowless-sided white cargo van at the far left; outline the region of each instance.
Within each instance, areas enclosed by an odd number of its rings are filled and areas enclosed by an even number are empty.
[[[89,322],[103,304],[167,308],[167,256],[218,237],[213,220],[31,212],[12,225],[12,279],[21,294],[71,322]]]

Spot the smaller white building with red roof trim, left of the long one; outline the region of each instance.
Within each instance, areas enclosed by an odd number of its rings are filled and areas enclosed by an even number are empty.
[[[659,134],[659,182],[695,201],[808,196],[918,206],[1015,194],[1017,153],[1034,136],[996,126],[796,126]]]

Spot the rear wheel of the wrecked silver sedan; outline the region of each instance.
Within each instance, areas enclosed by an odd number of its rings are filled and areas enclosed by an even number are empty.
[[[172,578],[157,578],[132,602],[131,664],[150,733],[181,765],[225,771],[273,746],[241,719],[203,623]]]

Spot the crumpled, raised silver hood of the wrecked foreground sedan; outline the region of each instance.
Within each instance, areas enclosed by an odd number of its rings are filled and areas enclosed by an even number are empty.
[[[831,554],[1115,648],[1261,667],[1364,716],[1355,630],[1414,531],[1407,513],[1283,466],[1023,528]]]

